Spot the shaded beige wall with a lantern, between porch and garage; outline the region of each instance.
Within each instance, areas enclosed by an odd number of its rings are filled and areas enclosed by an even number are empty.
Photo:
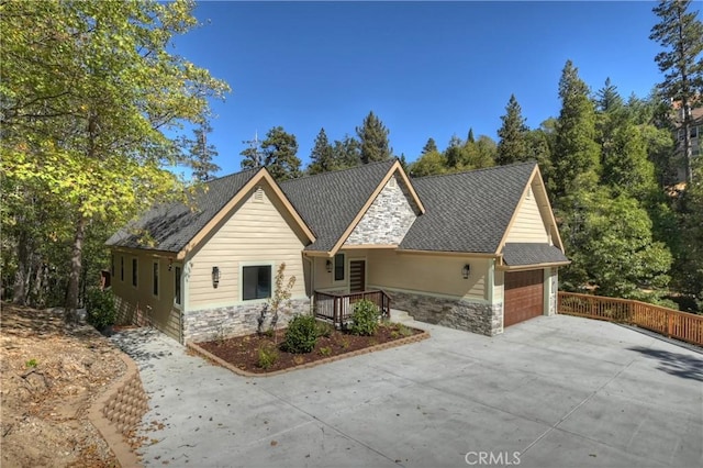
[[[466,264],[471,265],[468,279],[464,279],[461,274]],[[487,300],[488,269],[489,260],[486,258],[369,250],[367,283],[381,288]]]

